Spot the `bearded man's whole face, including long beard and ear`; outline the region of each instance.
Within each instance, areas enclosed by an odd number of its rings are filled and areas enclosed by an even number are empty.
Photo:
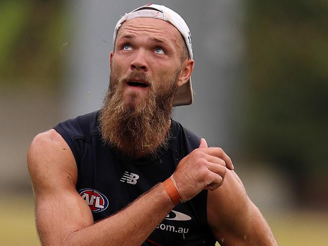
[[[181,42],[162,20],[136,18],[120,28],[99,120],[103,140],[131,158],[155,155],[167,144],[174,93],[193,65],[182,62]]]

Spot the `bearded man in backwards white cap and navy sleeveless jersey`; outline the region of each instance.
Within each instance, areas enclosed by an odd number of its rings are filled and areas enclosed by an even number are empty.
[[[100,111],[28,151],[44,245],[277,245],[230,158],[170,118],[192,103],[189,28],[146,5],[114,33]]]

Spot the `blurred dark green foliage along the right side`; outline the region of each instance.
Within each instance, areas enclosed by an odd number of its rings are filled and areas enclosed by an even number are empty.
[[[327,209],[328,1],[246,6],[245,146],[287,172],[300,205]]]

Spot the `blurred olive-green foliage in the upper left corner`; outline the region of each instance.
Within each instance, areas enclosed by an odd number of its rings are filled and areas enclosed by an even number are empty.
[[[57,85],[67,25],[63,1],[0,3],[0,86]],[[15,81],[15,82],[13,82]]]

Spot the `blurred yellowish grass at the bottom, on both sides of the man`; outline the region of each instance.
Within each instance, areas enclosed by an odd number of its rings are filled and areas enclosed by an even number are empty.
[[[40,245],[34,226],[34,204],[29,195],[0,198],[0,245]],[[326,246],[328,213],[264,213],[280,246]],[[217,244],[219,245],[219,244]]]

